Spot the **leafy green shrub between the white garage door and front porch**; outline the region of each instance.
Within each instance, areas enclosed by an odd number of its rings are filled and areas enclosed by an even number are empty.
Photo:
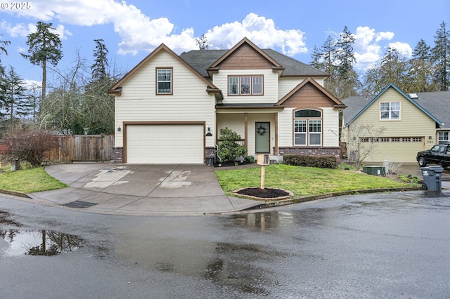
[[[231,128],[221,128],[218,140],[217,156],[222,162],[234,161],[236,157],[244,157],[247,154],[245,147],[238,144],[240,135]]]

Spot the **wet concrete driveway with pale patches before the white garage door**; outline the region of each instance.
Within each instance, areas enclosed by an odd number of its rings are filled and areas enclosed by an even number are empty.
[[[203,215],[251,208],[260,201],[226,197],[205,165],[58,164],[46,172],[70,188],[28,194],[41,204],[119,215]]]

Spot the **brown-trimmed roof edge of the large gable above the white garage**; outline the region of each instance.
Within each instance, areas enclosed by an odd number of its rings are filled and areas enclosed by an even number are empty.
[[[172,55],[172,57],[176,60],[178,60],[179,62],[181,62],[182,65],[184,65],[185,67],[187,67],[188,69],[191,70],[191,72],[193,72],[193,74],[195,74],[195,76],[197,76],[198,78],[200,78],[202,81],[205,82],[205,84],[208,86],[208,91],[211,92],[217,92],[219,93],[219,88],[217,88],[216,86],[214,86],[214,84],[212,84],[210,81],[208,81],[207,79],[205,79],[205,77],[203,77],[201,74],[199,74],[195,69],[193,69],[193,67],[191,67],[191,65],[188,65],[188,63],[186,63],[186,61],[182,60],[181,58],[179,58],[178,55],[176,55],[176,53],[174,53],[174,51],[172,51],[169,47],[167,47],[165,44],[161,44],[160,46],[158,46],[158,48],[155,48],[155,50],[150,53],[149,55],[147,55],[146,58],[144,58],[141,62],[139,62],[138,65],[136,65],[133,69],[131,69],[131,71],[129,71],[127,74],[125,74],[124,77],[122,77],[122,79],[120,79],[119,81],[117,81],[116,84],[114,84],[109,91],[107,91],[107,93],[110,94],[115,94],[115,95],[120,95],[120,86],[124,83],[124,81],[127,81],[130,77],[133,76],[133,74],[135,74],[139,69],[141,69],[141,67],[143,67],[143,65],[146,65],[146,63],[148,61],[150,61],[152,58],[154,58],[156,55],[158,55],[158,53],[160,53],[161,51],[166,51],[167,53],[169,53],[170,55]]]

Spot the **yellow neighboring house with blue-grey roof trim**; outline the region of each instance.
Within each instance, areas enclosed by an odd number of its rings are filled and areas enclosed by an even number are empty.
[[[417,152],[450,140],[450,91],[408,94],[390,84],[376,96],[342,102],[349,161],[417,163]]]

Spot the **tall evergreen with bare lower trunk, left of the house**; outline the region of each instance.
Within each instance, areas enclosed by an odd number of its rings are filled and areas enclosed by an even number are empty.
[[[29,54],[22,54],[33,65],[42,67],[42,102],[45,102],[46,98],[47,62],[56,66],[59,60],[63,58],[63,52],[60,50],[62,47],[60,38],[58,34],[53,33],[55,28],[51,26],[51,23],[37,22],[36,32],[27,36]]]

